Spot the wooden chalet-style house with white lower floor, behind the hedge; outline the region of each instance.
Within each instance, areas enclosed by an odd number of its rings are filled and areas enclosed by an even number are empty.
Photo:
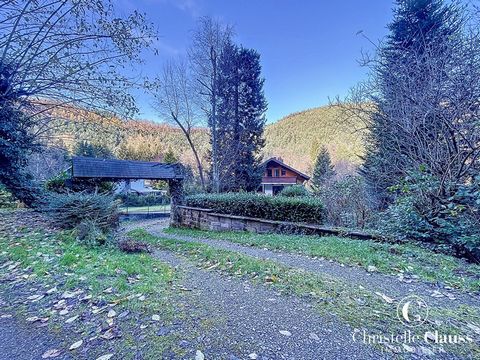
[[[267,195],[277,195],[284,187],[303,185],[310,179],[307,175],[285,164],[281,158],[272,157],[262,166],[265,167],[265,173],[262,177],[261,192]]]

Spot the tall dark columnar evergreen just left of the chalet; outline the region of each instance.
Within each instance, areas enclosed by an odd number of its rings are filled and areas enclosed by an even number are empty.
[[[227,43],[219,66],[218,135],[222,191],[255,190],[267,102],[260,55]]]

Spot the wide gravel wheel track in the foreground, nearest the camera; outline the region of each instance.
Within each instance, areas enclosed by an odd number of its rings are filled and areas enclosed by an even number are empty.
[[[185,274],[183,291],[187,298],[183,301],[190,304],[193,321],[207,324],[195,344],[205,359],[391,358],[354,343],[352,328],[334,317],[320,317],[311,304],[298,298],[197,269],[170,252],[155,251],[153,255]]]

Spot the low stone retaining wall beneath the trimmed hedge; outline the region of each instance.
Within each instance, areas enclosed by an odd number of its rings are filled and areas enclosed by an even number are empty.
[[[358,239],[375,238],[370,234],[357,231],[344,231],[341,229],[327,228],[318,225],[218,214],[211,209],[201,209],[189,206],[177,207],[177,215],[172,217],[172,225],[201,230],[249,231],[259,234],[289,233],[305,235],[340,235]]]

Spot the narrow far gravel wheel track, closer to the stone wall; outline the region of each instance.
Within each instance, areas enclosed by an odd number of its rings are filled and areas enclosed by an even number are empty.
[[[428,304],[431,305],[449,308],[457,307],[460,304],[468,304],[477,307],[480,306],[480,298],[478,295],[461,293],[450,289],[447,290],[440,284],[425,283],[418,280],[409,280],[410,282],[403,282],[392,275],[385,275],[377,272],[367,272],[365,269],[359,266],[342,265],[334,261],[318,258],[316,259],[305,255],[244,246],[226,240],[166,234],[163,232],[163,230],[168,225],[165,223],[158,223],[158,221],[142,224],[141,226],[143,226],[153,235],[162,236],[169,239],[199,242],[210,245],[217,249],[237,251],[258,259],[273,260],[289,267],[304,269],[320,275],[328,275],[335,279],[341,279],[347,283],[353,284],[354,286],[362,285],[366,289],[369,289],[373,292],[381,292],[396,299],[401,299],[405,296],[415,294],[424,298]]]

